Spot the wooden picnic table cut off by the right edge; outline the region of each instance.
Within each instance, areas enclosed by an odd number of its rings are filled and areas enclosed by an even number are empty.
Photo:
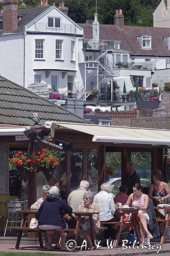
[[[169,220],[170,205],[169,205],[169,207],[155,206],[154,209],[155,209],[155,214],[158,217],[158,218],[156,218],[156,221],[158,221],[160,224],[163,225],[163,231],[161,233],[161,240],[160,240],[160,244],[163,244],[164,240],[165,240],[165,234],[166,234],[166,230],[168,227],[168,223],[170,222],[170,220]],[[161,214],[161,212],[159,210],[166,210],[165,216],[163,214]]]

